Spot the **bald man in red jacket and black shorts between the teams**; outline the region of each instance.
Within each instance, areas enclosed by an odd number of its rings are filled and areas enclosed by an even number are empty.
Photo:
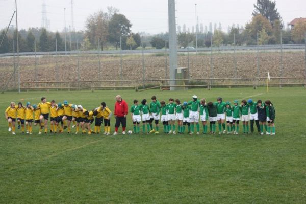
[[[120,95],[116,96],[116,103],[114,110],[116,123],[115,123],[114,135],[118,134],[118,128],[120,126],[120,123],[122,125],[122,134],[125,134],[127,110],[128,110],[127,103],[121,98]]]

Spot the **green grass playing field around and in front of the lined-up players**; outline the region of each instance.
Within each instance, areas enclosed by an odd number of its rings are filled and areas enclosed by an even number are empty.
[[[182,102],[192,95],[207,102],[218,96],[231,102],[270,99],[276,135],[38,135],[37,127],[31,136],[20,130],[12,135],[4,118],[11,101],[34,104],[42,96],[86,109],[105,101],[113,111],[117,94],[129,106],[133,99],[150,101],[152,95]],[[0,203],[305,203],[303,87],[271,88],[269,93],[265,88],[222,88],[0,96]],[[113,132],[114,118],[111,125]],[[129,117],[127,130],[132,129]]]

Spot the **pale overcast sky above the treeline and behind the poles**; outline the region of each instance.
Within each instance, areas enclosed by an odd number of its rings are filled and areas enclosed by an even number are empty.
[[[18,27],[41,27],[43,0],[17,0]],[[51,31],[64,29],[64,8],[66,8],[66,27],[71,25],[71,0],[46,0],[46,15]],[[176,0],[176,23],[192,29],[195,25],[195,4],[199,24],[209,28],[209,23],[219,22],[222,30],[232,24],[245,25],[251,20],[253,4],[256,0]],[[133,32],[156,34],[168,31],[167,0],[73,0],[75,30],[84,30],[86,18],[98,10],[106,10],[107,6],[119,9],[132,23]],[[0,28],[9,24],[15,10],[15,0],[0,0]],[[277,0],[276,7],[285,24],[296,17],[306,17],[305,0]],[[13,22],[15,25],[15,21]]]

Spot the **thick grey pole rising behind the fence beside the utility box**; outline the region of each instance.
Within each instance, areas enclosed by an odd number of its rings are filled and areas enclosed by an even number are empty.
[[[169,21],[169,65],[170,65],[170,90],[175,90],[175,71],[177,68],[176,47],[176,22],[175,22],[175,0],[168,0]]]

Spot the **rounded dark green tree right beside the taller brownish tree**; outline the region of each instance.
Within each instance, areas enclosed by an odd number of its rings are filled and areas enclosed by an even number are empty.
[[[115,13],[109,21],[109,40],[118,50],[120,37],[129,36],[132,24],[124,15]]]

